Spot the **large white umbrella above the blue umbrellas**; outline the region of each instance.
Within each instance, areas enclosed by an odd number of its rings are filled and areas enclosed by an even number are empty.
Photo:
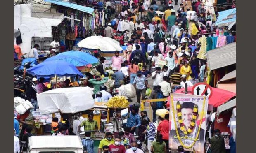
[[[118,41],[102,36],[91,36],[78,42],[78,47],[87,49],[100,49],[101,51],[122,51]]]

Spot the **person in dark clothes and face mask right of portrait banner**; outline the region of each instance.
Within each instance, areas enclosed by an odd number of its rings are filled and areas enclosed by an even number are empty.
[[[214,136],[210,140],[210,150],[212,153],[226,153],[225,142],[220,130],[214,130]]]

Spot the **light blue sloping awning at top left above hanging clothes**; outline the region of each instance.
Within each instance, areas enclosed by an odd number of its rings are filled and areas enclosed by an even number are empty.
[[[92,14],[94,9],[91,7],[85,7],[82,5],[78,5],[78,4],[73,4],[73,3],[69,3],[69,2],[64,2],[63,0],[44,0],[45,2],[50,2],[53,4],[57,4],[57,5],[62,5],[64,7],[69,7],[72,9],[76,9],[78,11],[82,11],[82,12],[86,12],[89,14]]]

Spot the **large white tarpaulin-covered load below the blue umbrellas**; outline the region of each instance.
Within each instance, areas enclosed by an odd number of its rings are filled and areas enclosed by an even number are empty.
[[[38,94],[42,115],[59,112],[77,113],[94,107],[94,100],[89,87],[57,88]]]

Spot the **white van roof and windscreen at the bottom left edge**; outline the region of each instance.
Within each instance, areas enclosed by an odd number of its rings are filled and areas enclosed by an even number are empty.
[[[27,153],[83,153],[78,136],[31,136]]]

